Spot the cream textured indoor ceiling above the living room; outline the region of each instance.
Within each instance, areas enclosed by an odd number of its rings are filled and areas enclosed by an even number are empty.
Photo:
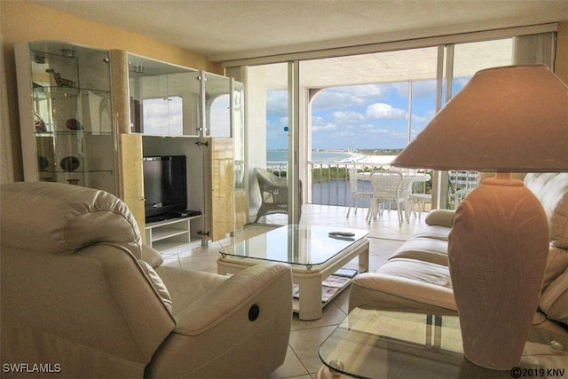
[[[568,0],[36,0],[213,61],[568,20]]]

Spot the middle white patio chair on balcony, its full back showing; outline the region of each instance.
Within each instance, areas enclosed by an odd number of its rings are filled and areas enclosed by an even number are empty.
[[[407,191],[407,188],[403,188],[402,173],[393,170],[374,171],[371,173],[371,184],[373,185],[373,197],[367,214],[367,223],[371,223],[371,218],[376,219],[377,216],[382,216],[384,209],[386,207],[390,209],[390,204],[395,203],[398,226],[401,226]]]

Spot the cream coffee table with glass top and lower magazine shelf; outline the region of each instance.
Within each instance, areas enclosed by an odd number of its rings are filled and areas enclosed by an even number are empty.
[[[334,232],[343,235],[330,234]],[[296,287],[294,312],[300,320],[317,320],[322,308],[351,283],[342,281],[335,272],[356,257],[359,268],[355,271],[368,271],[367,234],[367,230],[326,225],[281,226],[222,249],[217,272],[225,275],[270,261],[287,263]],[[322,283],[330,287],[324,288]]]

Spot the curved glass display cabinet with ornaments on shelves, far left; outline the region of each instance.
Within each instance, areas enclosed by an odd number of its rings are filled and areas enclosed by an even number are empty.
[[[25,180],[118,194],[109,52],[53,42],[15,51]]]

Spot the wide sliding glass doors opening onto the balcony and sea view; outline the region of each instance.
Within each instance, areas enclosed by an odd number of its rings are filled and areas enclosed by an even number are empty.
[[[302,60],[270,63],[278,58],[266,57],[252,59],[254,66],[240,67],[247,72],[249,221],[295,223],[301,202],[345,205],[348,190],[332,184],[326,188],[335,196],[320,191],[318,198],[314,186],[324,188],[325,178],[314,174],[316,166],[338,184],[347,163],[375,160],[388,166],[385,156],[398,154],[478,70],[554,61],[552,33],[481,39],[464,36],[460,42],[364,54],[350,50],[333,58],[328,58],[331,52],[321,58],[325,54],[314,51],[312,57],[299,54]],[[340,157],[330,158],[331,153]],[[285,202],[286,214],[259,212],[270,194],[261,195],[256,167],[285,178],[280,181],[294,188],[279,200]],[[452,209],[477,186],[477,172],[431,174],[432,208]],[[337,201],[324,202],[331,198]]]

